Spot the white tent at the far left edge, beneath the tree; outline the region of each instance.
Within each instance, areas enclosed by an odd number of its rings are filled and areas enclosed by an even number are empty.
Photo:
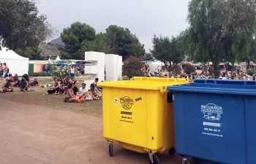
[[[7,63],[10,74],[29,74],[29,58],[23,58],[12,50],[2,47],[0,50],[0,62]]]

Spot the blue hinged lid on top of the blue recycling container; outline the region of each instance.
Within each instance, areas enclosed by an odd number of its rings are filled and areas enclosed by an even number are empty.
[[[195,83],[168,86],[167,90],[190,93],[256,95],[256,81],[195,79]]]

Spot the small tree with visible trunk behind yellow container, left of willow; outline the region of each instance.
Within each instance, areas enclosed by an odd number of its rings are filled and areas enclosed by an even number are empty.
[[[169,77],[171,77],[171,72],[175,71],[173,69],[176,68],[178,63],[184,59],[184,52],[181,49],[181,36],[169,37],[165,36],[155,36],[152,39],[153,42],[153,50],[151,50],[152,55],[157,60],[165,63],[165,68],[169,72]],[[170,66],[168,66],[168,64]],[[172,66],[173,64],[173,66]]]

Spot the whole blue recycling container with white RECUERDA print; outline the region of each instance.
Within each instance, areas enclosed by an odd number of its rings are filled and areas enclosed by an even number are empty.
[[[176,152],[214,163],[256,163],[256,81],[195,79],[174,94]]]

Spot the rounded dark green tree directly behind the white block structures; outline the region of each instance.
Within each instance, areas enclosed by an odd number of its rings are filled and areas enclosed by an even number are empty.
[[[128,28],[111,25],[106,29],[106,36],[109,39],[113,53],[121,55],[126,60],[129,55],[143,57],[145,55],[144,45],[135,34]]]

